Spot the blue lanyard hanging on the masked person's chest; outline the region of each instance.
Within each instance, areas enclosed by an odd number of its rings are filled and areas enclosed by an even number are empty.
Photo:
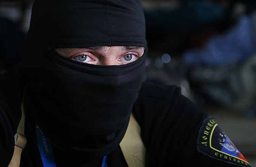
[[[39,148],[39,152],[41,154],[41,159],[43,162],[44,167],[56,167],[52,146],[50,145],[49,139],[44,135],[41,129],[36,126],[36,139],[37,139],[37,146]],[[107,156],[103,157],[101,167],[107,167]]]

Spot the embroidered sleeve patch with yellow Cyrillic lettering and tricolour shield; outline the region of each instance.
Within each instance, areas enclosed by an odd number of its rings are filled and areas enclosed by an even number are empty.
[[[200,128],[197,148],[200,153],[214,159],[242,167],[251,167],[212,117],[207,117]]]

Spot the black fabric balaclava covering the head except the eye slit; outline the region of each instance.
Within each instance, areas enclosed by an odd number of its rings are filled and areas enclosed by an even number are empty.
[[[30,114],[52,144],[95,156],[115,150],[143,82],[146,51],[130,64],[98,66],[54,48],[146,48],[140,1],[36,0],[26,43],[25,102],[28,97]]]

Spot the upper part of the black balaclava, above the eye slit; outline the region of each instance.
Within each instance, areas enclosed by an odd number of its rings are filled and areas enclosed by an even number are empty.
[[[139,0],[36,0],[28,38],[53,47],[143,46]]]

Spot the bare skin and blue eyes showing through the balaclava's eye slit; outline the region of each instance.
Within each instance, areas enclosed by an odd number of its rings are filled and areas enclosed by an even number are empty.
[[[132,63],[144,53],[144,47],[89,47],[89,48],[57,48],[56,51],[65,58],[82,63],[113,66]]]

